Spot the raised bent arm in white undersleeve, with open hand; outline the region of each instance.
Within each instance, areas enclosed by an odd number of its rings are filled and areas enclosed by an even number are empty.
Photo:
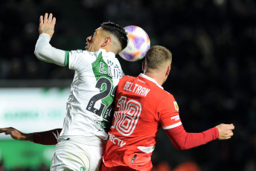
[[[45,62],[51,62],[61,66],[68,66],[67,59],[68,51],[63,51],[54,48],[50,44],[51,37],[54,34],[54,26],[56,18],[50,13],[45,13],[45,17],[40,16],[39,21],[39,38],[36,42],[34,54],[36,57]]]

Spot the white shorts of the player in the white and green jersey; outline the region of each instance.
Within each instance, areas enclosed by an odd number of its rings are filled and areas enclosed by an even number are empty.
[[[100,138],[62,136],[54,150],[51,171],[97,171],[100,169],[102,155]]]

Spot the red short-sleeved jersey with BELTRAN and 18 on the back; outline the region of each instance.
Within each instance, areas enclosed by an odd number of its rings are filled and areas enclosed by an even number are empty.
[[[160,127],[171,129],[181,124],[176,100],[156,80],[144,74],[123,77],[115,94],[104,164],[150,170]]]

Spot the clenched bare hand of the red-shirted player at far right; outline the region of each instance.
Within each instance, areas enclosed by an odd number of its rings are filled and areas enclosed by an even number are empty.
[[[234,134],[232,132],[232,130],[234,129],[234,125],[233,123],[231,124],[220,124],[217,127],[217,129],[219,130],[219,140],[227,140],[229,138],[231,138]]]

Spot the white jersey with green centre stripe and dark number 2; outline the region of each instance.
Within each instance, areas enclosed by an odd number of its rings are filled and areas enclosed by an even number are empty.
[[[66,51],[67,60],[75,74],[60,136],[96,135],[106,140],[116,86],[124,76],[121,65],[114,53],[103,49]]]

